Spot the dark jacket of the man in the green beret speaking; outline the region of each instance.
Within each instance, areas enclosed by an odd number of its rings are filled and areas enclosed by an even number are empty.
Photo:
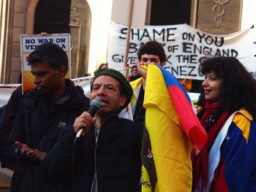
[[[72,127],[65,128],[45,158],[42,172],[51,183],[59,183],[72,172],[72,191],[90,192],[96,169],[98,192],[140,191],[141,134],[141,126],[132,120],[110,115],[102,123],[97,144],[94,127],[78,140],[70,171],[75,134]]]

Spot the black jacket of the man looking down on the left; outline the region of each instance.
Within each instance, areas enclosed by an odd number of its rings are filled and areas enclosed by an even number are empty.
[[[26,143],[41,152],[49,152],[58,139],[59,131],[74,123],[89,109],[89,99],[83,89],[66,80],[61,99],[48,101],[39,91],[31,91],[20,101],[18,114],[10,135],[10,155],[18,165],[12,177],[12,191],[63,191],[62,184],[51,186],[42,180],[39,161],[29,161],[17,152],[15,141]]]

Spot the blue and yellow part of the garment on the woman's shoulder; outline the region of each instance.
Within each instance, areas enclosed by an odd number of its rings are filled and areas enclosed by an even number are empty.
[[[222,143],[223,176],[228,191],[253,191],[256,183],[255,122],[237,115]]]

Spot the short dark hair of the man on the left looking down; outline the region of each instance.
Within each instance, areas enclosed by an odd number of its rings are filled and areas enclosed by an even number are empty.
[[[69,68],[67,53],[54,43],[41,44],[29,54],[29,65],[44,62],[52,69],[59,69],[60,66],[65,66],[68,71]]]

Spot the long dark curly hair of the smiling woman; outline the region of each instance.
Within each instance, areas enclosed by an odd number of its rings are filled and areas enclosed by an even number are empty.
[[[233,57],[208,58],[200,64],[200,72],[214,72],[222,78],[222,107],[229,112],[245,108],[256,118],[256,80],[245,67]],[[204,104],[201,95],[199,103]]]

